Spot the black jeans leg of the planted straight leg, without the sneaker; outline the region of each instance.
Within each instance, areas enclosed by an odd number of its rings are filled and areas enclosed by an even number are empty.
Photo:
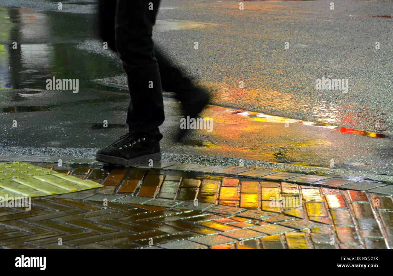
[[[130,107],[127,124],[134,136],[162,138],[164,122],[160,71],[152,40],[160,0],[117,0],[116,49],[127,73]]]

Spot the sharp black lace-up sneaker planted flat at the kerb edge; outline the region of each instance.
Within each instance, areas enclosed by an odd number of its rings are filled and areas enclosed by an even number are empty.
[[[161,161],[160,140],[149,136],[136,138],[127,133],[108,147],[99,149],[95,160],[118,165]]]

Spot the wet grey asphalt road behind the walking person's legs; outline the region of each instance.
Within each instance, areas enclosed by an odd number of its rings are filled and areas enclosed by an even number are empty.
[[[392,175],[393,19],[371,15],[389,14],[393,2],[338,1],[334,11],[329,3],[256,1],[245,2],[246,9],[239,11],[237,2],[164,0],[158,17],[163,21],[154,38],[212,91],[213,106],[204,115],[215,120],[212,133],[189,136],[208,142],[205,147],[173,144],[172,126],[180,114],[177,103],[165,101],[165,158],[231,165],[239,165],[242,158],[248,166]],[[105,79],[110,85],[125,85],[116,56],[102,51],[95,40],[92,1],[64,1],[64,11],[72,13],[61,14],[53,11],[56,3],[51,1],[0,0],[0,5],[6,4],[52,11],[0,9],[1,73],[6,75],[0,85],[12,83],[12,89],[0,91],[0,122],[5,126],[0,154],[92,156],[95,148],[123,134],[127,91],[90,82]],[[178,29],[169,20],[211,25]],[[24,46],[12,53],[9,45],[14,40]],[[198,50],[193,49],[195,41]],[[284,49],[285,41],[289,49]],[[375,50],[375,41],[381,49]],[[12,68],[7,72],[8,65]],[[80,78],[81,92],[44,90],[46,78],[53,75]],[[316,91],[314,82],[321,76],[348,78],[348,92]],[[239,89],[239,81],[244,89]],[[298,123],[286,128],[283,119],[263,122],[233,111],[330,123],[388,137]],[[20,122],[18,128],[10,127],[12,120]],[[103,120],[108,120],[109,129],[97,128]]]

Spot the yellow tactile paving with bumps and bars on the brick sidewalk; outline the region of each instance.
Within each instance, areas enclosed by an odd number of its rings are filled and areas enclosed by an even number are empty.
[[[64,194],[104,187],[91,180],[81,180],[24,162],[0,163],[0,201],[13,197]]]

